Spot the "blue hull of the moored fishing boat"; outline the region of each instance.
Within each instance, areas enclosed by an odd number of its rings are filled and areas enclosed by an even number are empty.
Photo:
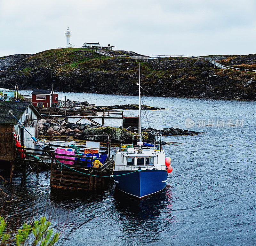
[[[166,170],[141,170],[133,173],[130,170],[125,170],[114,171],[113,174],[117,189],[138,198],[161,191],[167,182]]]

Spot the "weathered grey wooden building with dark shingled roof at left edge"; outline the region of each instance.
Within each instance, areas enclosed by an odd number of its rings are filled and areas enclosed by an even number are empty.
[[[17,119],[9,114],[9,110],[22,123],[32,136],[38,137],[38,119],[42,118],[30,102],[0,101],[0,162],[13,161],[15,144],[13,132],[20,137],[20,143],[27,148],[34,148],[34,142],[28,132]]]

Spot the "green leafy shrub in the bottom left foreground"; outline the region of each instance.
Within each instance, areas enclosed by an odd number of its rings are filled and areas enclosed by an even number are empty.
[[[35,220],[33,226],[24,223],[22,228],[18,230],[15,235],[16,245],[24,246],[29,245],[36,246],[52,246],[54,245],[60,236],[60,233],[54,233],[52,229],[49,229],[51,225],[50,221],[47,221],[45,217],[42,217],[40,221]],[[0,217],[0,246],[7,245],[10,234],[4,233],[6,229],[6,223],[3,217]]]

